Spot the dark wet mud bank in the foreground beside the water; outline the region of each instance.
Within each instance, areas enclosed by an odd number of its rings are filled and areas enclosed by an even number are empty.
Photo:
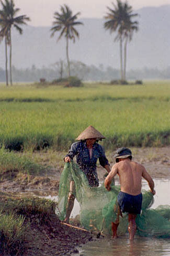
[[[69,256],[78,253],[77,246],[95,239],[89,232],[62,225],[56,217],[46,225],[33,221],[26,237],[24,256]]]

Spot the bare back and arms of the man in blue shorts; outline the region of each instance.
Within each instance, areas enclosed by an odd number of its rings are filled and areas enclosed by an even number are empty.
[[[105,187],[111,184],[112,178],[118,174],[120,180],[120,189],[124,193],[136,196],[141,193],[142,177],[149,183],[151,190],[154,188],[154,182],[151,176],[146,172],[143,165],[130,161],[126,158],[115,164],[107,178]]]

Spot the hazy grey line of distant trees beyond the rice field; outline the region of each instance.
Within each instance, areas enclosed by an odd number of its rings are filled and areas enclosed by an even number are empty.
[[[67,76],[67,63],[64,61],[62,63],[62,69],[59,62],[42,68],[32,65],[31,68],[17,69],[13,66],[13,78],[16,82],[39,82],[40,78],[46,79],[47,82],[60,80],[62,77]],[[120,76],[120,69],[110,66],[104,68],[103,65],[99,65],[98,67],[94,65],[88,66],[80,61],[71,61],[70,70],[72,76],[77,76],[84,81],[109,82],[111,80],[118,80]],[[131,69],[127,72],[127,79],[170,79],[170,67],[162,70],[146,67],[142,69]],[[0,82],[5,82],[5,70],[2,68],[0,68]]]

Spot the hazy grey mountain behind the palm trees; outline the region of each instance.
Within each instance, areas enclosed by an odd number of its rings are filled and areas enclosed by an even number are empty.
[[[128,45],[127,69],[157,67],[164,69],[170,60],[170,5],[144,7],[139,13],[139,31]],[[115,34],[104,29],[104,19],[85,18],[77,26],[80,40],[70,43],[70,59],[87,65],[119,68],[119,43]],[[56,43],[50,38],[50,27],[25,26],[20,36],[12,32],[13,65],[16,68],[48,67],[59,59],[65,60],[65,40]],[[5,67],[5,45],[0,45],[0,67]]]

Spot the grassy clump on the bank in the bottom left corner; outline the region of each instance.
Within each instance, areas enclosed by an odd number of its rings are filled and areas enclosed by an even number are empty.
[[[56,203],[44,198],[12,198],[1,195],[0,200],[0,253],[22,255],[26,236],[33,219],[39,225],[54,216]]]

